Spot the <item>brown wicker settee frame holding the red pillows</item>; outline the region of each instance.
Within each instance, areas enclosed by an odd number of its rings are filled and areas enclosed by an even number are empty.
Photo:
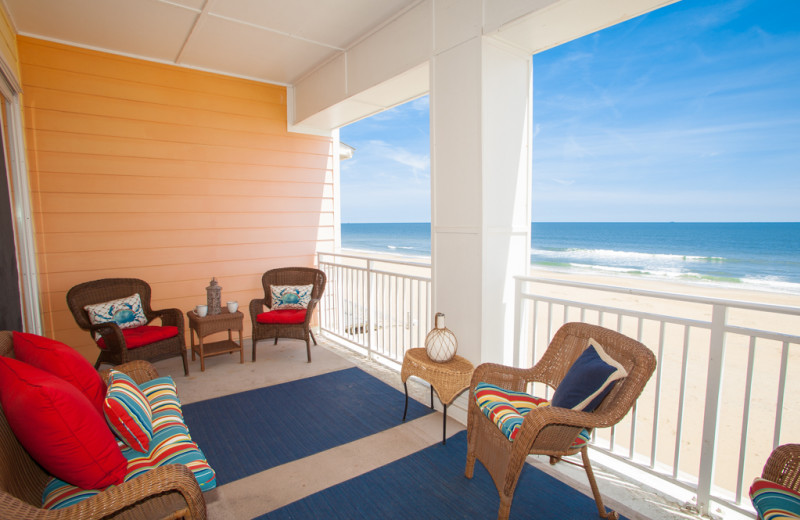
[[[0,331],[0,356],[14,357],[10,331]],[[116,368],[137,383],[158,377],[155,368],[145,361],[132,361]],[[41,509],[42,491],[50,478],[14,436],[0,408],[0,518],[3,520],[206,518],[200,486],[191,470],[182,464],[156,468],[57,510]]]

